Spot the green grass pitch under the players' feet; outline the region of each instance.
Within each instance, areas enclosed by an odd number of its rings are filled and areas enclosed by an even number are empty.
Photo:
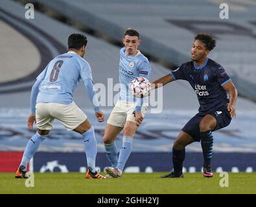
[[[34,173],[34,187],[14,173],[0,173],[0,193],[84,193],[84,194],[180,194],[256,193],[256,173],[228,173],[228,187],[220,187],[220,177],[185,173],[183,179],[160,179],[165,173],[124,173],[121,179],[84,179],[84,173]]]

